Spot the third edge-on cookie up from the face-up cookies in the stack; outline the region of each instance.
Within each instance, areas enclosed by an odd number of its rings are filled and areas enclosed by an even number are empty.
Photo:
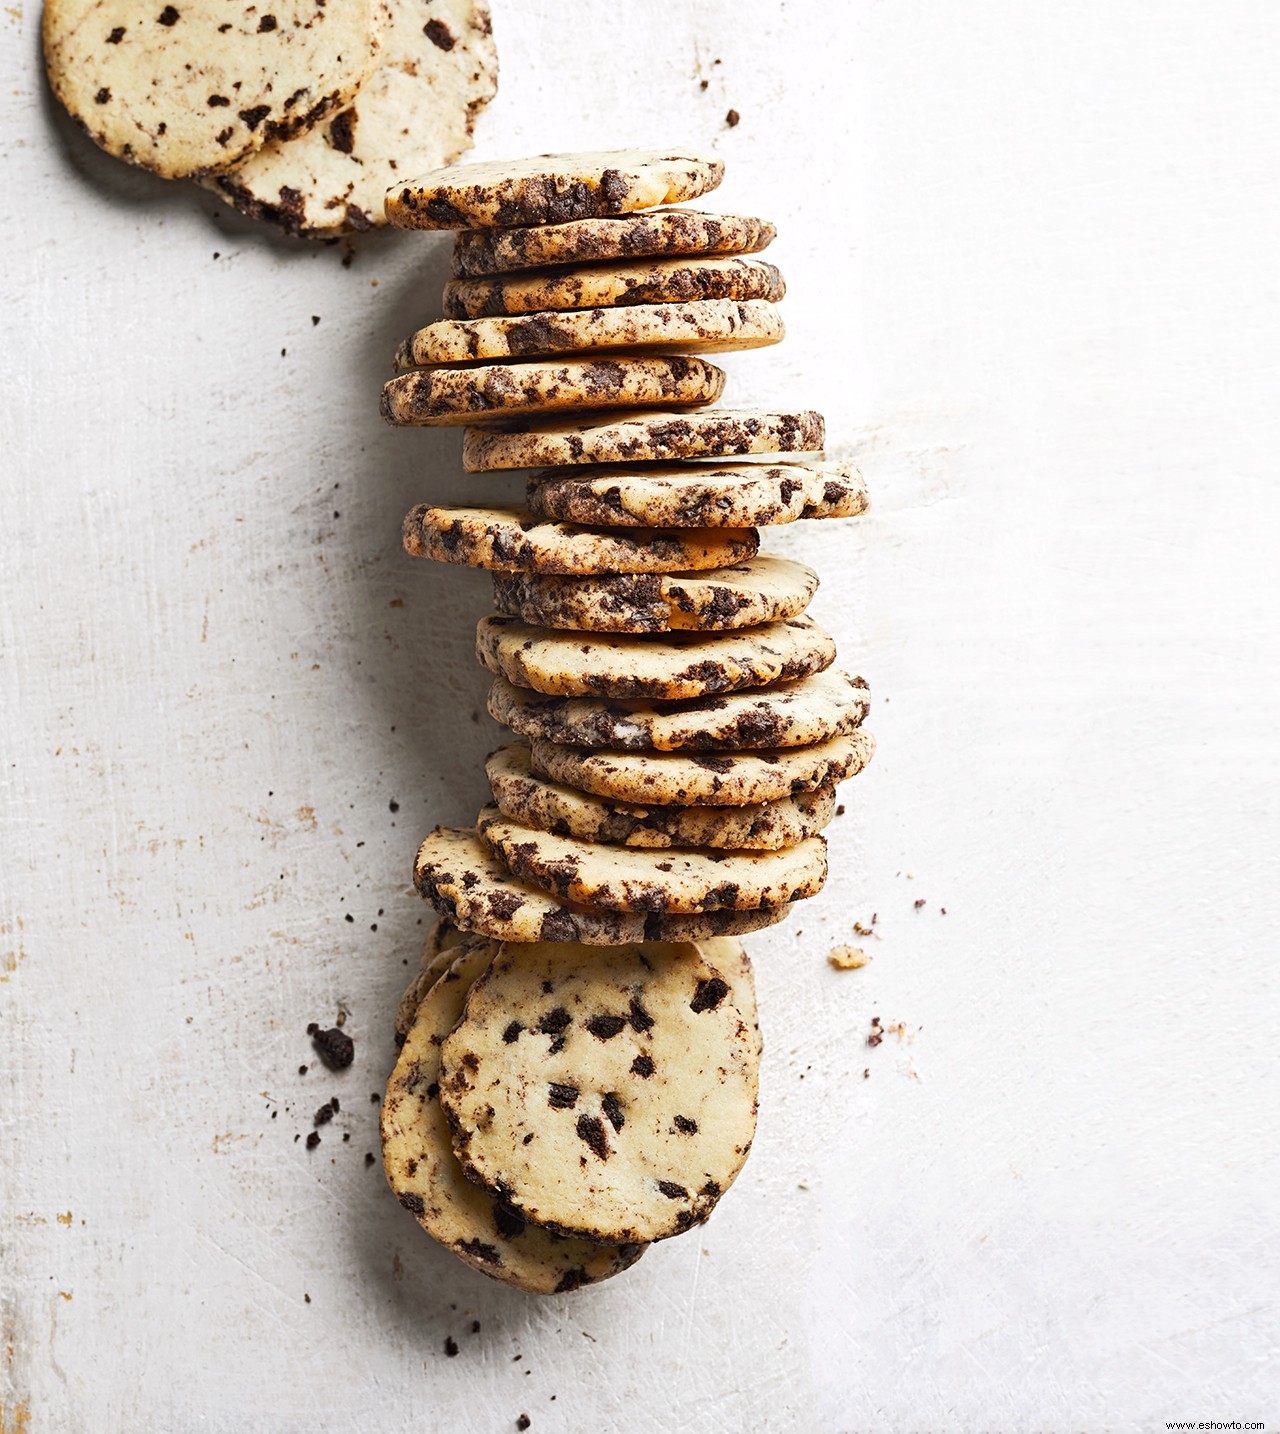
[[[503,816],[539,832],[586,842],[648,847],[780,850],[817,836],[836,810],[836,789],[820,787],[754,806],[638,806],[592,796],[539,776],[523,743],[499,747],[484,763]]]

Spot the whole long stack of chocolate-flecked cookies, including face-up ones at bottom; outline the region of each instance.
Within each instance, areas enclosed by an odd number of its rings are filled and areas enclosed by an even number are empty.
[[[761,219],[667,205],[718,161],[470,165],[397,186],[460,229],[447,318],[407,338],[394,424],[466,426],[523,505],[423,503],[406,548],[495,574],[477,654],[519,740],[473,829],[416,863],[441,913],[397,1014],[388,1179],[476,1268],[535,1291],[707,1217],[745,1160],[760,1041],[735,939],[827,873],[836,784],[873,751],[803,564],[761,526],[866,508],[813,412],[710,407],[705,354],[777,343]]]

